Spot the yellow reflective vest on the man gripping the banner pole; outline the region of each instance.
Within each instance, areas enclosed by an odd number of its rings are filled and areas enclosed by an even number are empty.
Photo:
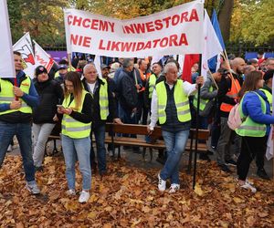
[[[164,124],[166,121],[166,104],[167,93],[164,85],[164,81],[156,85],[156,92],[158,97],[158,117],[160,124]],[[174,85],[174,102],[177,109],[177,117],[180,122],[186,122],[191,119],[188,97],[183,90],[183,81],[178,79]]]

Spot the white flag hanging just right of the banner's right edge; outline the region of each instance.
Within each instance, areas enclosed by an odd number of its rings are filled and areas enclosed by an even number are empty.
[[[208,70],[207,60],[215,57],[219,53],[223,51],[223,48],[216,36],[216,32],[214,27],[211,24],[209,16],[205,11],[205,18],[204,18],[204,51],[202,54],[202,69],[201,74],[206,78],[206,72]]]

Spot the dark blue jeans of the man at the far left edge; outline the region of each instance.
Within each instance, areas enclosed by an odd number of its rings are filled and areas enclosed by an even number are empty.
[[[23,158],[26,181],[30,184],[35,183],[30,123],[7,123],[5,121],[0,121],[0,167],[5,159],[7,147],[15,135],[19,142],[20,152]]]

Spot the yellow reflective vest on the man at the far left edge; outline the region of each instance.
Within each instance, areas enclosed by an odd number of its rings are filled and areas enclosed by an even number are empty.
[[[1,91],[0,91],[0,104],[10,104],[13,100],[15,100],[15,94],[14,94],[14,85],[9,80],[3,80],[0,78],[0,85],[1,85]],[[20,88],[21,90],[29,94],[29,88],[31,85],[31,79],[26,76],[26,79],[21,82]],[[32,109],[30,106],[26,104],[26,102],[19,98],[19,100],[22,101],[22,105],[20,109],[8,109],[6,111],[0,112],[0,115],[21,111],[23,113],[32,113]]]

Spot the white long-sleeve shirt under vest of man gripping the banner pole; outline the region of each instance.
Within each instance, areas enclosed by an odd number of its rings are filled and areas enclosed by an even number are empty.
[[[174,85],[169,85],[169,88],[173,88]],[[196,85],[191,84],[187,81],[184,81],[182,89],[184,90],[184,93],[187,94],[187,96],[192,96],[196,92]],[[158,96],[156,89],[153,90],[153,98],[152,98],[152,116],[151,116],[151,123],[150,123],[150,129],[153,130],[157,121],[158,121]]]

